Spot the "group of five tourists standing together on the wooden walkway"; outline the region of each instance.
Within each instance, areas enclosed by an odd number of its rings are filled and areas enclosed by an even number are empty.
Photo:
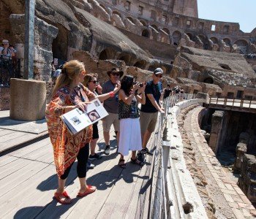
[[[154,70],[152,80],[148,82],[137,82],[132,75],[123,77],[121,69],[113,68],[108,72],[109,80],[102,86],[97,74],[88,74],[80,61],[68,61],[58,74],[46,109],[46,119],[59,179],[54,197],[61,204],[69,204],[72,199],[64,191],[64,185],[72,164],[78,159],[78,196],[87,196],[97,189],[86,184],[86,170],[91,167],[89,161],[102,156],[95,152],[99,139],[98,124],[72,135],[61,121],[61,115],[75,108],[86,112],[90,101],[99,99],[108,112],[108,116],[102,119],[104,153],[110,154],[110,128],[113,125],[120,154],[118,166],[126,168],[124,156],[129,151],[132,151],[131,163],[143,166],[146,154],[152,155],[147,143],[157,124],[158,114],[165,112],[162,99],[177,92],[183,94],[184,90],[178,87],[171,89],[170,85],[163,89],[161,68]],[[139,103],[141,109],[138,108]]]

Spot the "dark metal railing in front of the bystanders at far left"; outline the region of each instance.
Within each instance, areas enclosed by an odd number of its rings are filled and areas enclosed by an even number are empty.
[[[11,78],[20,78],[20,59],[0,55],[0,88],[10,87]]]

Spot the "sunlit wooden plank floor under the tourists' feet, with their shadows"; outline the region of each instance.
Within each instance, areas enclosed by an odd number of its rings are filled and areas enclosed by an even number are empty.
[[[49,138],[1,156],[0,218],[147,218],[152,157],[147,156],[142,168],[128,162],[127,169],[121,169],[113,134],[110,155],[94,161],[96,166],[87,172],[87,183],[97,186],[95,193],[76,197],[76,163],[72,166],[66,189],[73,199],[70,205],[53,199],[57,177]],[[99,150],[103,142],[100,123]]]

